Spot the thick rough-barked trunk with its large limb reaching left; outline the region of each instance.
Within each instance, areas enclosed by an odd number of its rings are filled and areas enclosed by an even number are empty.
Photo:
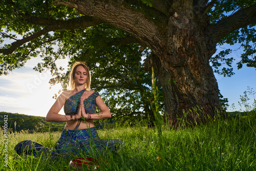
[[[81,14],[100,18],[150,47],[152,54],[144,66],[148,71],[153,67],[161,82],[168,124],[176,125],[181,117],[205,121],[220,109],[218,84],[209,66],[217,39],[208,31],[208,16],[193,3],[172,1],[162,22],[119,1],[83,0],[77,7]]]

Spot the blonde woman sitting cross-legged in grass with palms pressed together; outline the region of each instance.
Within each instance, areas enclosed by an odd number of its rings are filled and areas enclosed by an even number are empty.
[[[116,151],[123,142],[119,139],[102,140],[98,137],[93,119],[111,118],[111,113],[99,93],[90,90],[91,75],[83,62],[75,62],[70,72],[70,90],[63,91],[49,110],[46,121],[67,122],[55,146],[53,156],[73,156],[101,152],[106,147]],[[64,106],[66,115],[58,114]],[[100,113],[96,112],[98,106]],[[49,148],[35,141],[22,141],[15,146],[17,154],[47,153]]]

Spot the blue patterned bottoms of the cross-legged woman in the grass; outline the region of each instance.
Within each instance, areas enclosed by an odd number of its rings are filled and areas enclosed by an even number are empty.
[[[19,142],[14,150],[18,155],[34,155],[40,156],[41,153],[51,154],[52,158],[58,156],[73,158],[81,154],[93,155],[111,149],[112,152],[123,146],[124,143],[120,139],[100,139],[95,127],[84,130],[63,130],[60,138],[52,148],[32,140]]]

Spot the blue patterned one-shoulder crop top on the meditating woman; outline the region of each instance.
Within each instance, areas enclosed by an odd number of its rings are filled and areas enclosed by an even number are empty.
[[[64,104],[64,112],[66,115],[75,115],[80,104],[80,98],[86,89],[77,92],[71,96]],[[99,96],[98,92],[93,92],[87,99],[84,99],[83,105],[86,113],[93,114],[96,112],[96,98]]]

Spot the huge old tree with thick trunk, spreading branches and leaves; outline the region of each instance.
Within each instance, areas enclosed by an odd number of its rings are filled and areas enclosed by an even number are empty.
[[[217,44],[241,44],[244,54],[238,67],[243,63],[247,67],[256,66],[256,57],[252,56],[256,40],[255,12],[254,1],[240,0],[3,1],[2,38],[12,38],[14,42],[0,50],[2,72],[20,67],[38,54],[55,69],[54,61],[60,55],[74,53],[61,39],[92,26],[108,24],[125,34],[109,37],[105,46],[138,44],[142,50],[150,49],[144,68],[151,71],[153,67],[161,83],[168,123],[175,124],[184,113],[188,120],[199,121],[206,114],[213,117],[214,110],[220,109],[212,67],[224,76],[232,75],[230,68],[219,70],[220,61],[230,67],[233,59],[225,55],[231,50],[212,57]],[[10,31],[23,37],[17,39]],[[55,44],[62,48],[54,51]],[[196,106],[202,106],[202,115],[190,110]]]

